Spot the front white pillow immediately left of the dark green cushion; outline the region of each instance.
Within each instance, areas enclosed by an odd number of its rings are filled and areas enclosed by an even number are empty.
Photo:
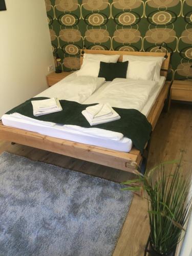
[[[76,72],[77,76],[92,76],[98,77],[100,69],[100,60],[86,59],[83,61],[79,71]]]

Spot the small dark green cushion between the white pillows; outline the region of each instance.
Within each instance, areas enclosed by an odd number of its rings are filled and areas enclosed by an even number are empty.
[[[108,63],[101,61],[98,77],[104,77],[106,81],[112,81],[115,78],[126,78],[128,62]]]

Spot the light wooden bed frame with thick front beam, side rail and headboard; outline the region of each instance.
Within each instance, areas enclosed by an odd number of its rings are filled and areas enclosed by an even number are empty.
[[[119,61],[122,61],[122,55],[136,56],[164,56],[164,53],[157,52],[127,52],[127,51],[103,51],[103,50],[84,50],[84,53],[92,54],[120,54]],[[161,75],[167,75],[169,66],[170,53],[161,67]],[[80,63],[82,64],[83,56],[81,54]],[[170,82],[165,84],[153,105],[150,114],[147,116],[148,121],[152,124],[153,129],[158,121],[159,115],[163,109],[164,101],[169,92]],[[0,122],[0,139],[8,140],[18,144],[28,145],[41,150],[58,153],[65,156],[74,157],[89,162],[98,163],[105,166],[121,169],[133,173],[136,166],[141,164],[142,157],[136,148],[132,148],[129,153],[109,150],[108,148],[82,144],[69,140],[58,139],[35,132],[29,132],[5,126]],[[147,146],[147,145],[146,145]]]

